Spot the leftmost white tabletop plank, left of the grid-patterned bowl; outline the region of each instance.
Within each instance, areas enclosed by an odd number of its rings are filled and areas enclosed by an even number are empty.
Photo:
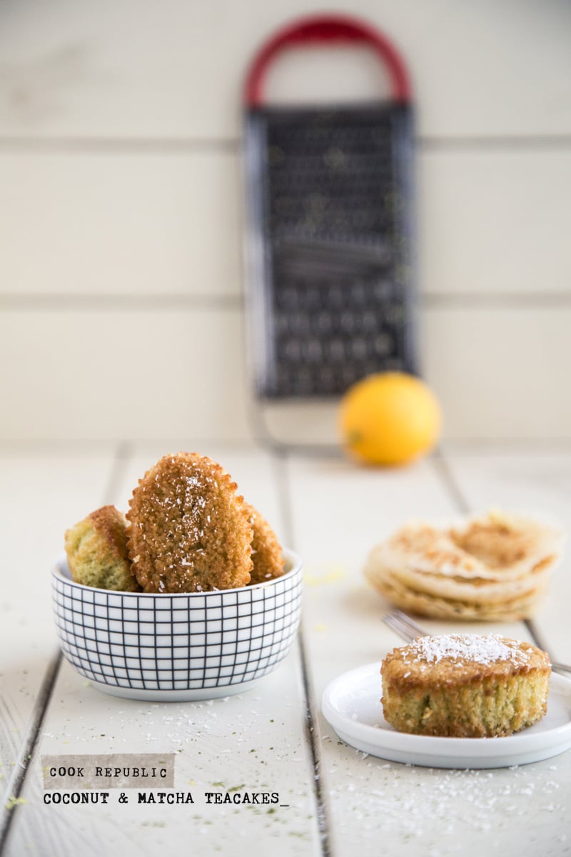
[[[0,450],[0,532],[4,584],[0,599],[0,773],[4,795],[27,759],[46,669],[57,652],[51,613],[51,566],[68,526],[104,502],[114,465],[111,446]]]

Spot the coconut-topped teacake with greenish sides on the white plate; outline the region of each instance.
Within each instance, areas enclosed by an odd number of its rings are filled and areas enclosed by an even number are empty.
[[[384,658],[384,718],[419,735],[510,735],[544,716],[550,672],[549,656],[529,643],[493,634],[419,637]]]

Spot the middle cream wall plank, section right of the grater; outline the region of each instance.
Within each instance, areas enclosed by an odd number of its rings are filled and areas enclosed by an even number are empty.
[[[425,294],[568,294],[570,151],[421,151],[418,173]]]

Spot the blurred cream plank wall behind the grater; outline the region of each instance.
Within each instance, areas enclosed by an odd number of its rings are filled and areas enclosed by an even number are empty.
[[[325,9],[384,30],[413,79],[446,434],[571,434],[568,0],[4,0],[0,440],[247,439],[241,87],[273,30]],[[331,52],[269,83],[375,75]]]

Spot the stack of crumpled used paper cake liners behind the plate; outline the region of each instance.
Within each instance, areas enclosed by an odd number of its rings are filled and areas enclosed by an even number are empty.
[[[487,512],[455,526],[406,524],[373,548],[366,577],[397,607],[437,619],[520,620],[535,612],[562,532]]]

